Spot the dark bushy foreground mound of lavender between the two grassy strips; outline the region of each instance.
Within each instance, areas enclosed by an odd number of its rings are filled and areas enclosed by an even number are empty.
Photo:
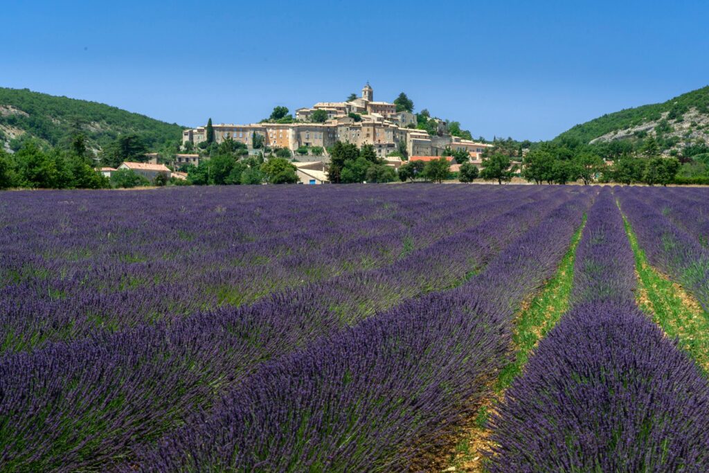
[[[709,468],[709,385],[630,302],[567,313],[491,423],[491,472]]]

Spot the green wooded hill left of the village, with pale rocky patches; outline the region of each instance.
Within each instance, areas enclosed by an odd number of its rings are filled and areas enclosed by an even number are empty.
[[[125,133],[140,135],[149,148],[157,149],[181,140],[182,129],[97,102],[0,88],[0,148],[18,148],[28,137],[65,146],[74,133],[81,132],[94,150]]]

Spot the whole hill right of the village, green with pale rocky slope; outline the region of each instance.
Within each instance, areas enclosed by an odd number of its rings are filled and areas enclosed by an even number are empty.
[[[709,86],[676,96],[662,104],[608,113],[574,126],[556,140],[593,143],[640,140],[649,136],[664,140],[669,148],[686,146],[688,142],[709,143]]]

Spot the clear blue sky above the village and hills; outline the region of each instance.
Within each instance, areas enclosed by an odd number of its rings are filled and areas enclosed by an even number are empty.
[[[475,135],[553,138],[709,84],[709,2],[3,0],[0,87],[186,126],[406,91]]]

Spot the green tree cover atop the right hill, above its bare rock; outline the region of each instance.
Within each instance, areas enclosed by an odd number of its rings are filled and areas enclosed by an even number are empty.
[[[709,87],[688,92],[662,104],[644,105],[608,113],[595,120],[574,126],[559,135],[556,140],[560,138],[576,138],[582,143],[588,143],[593,138],[598,138],[615,130],[625,130],[648,121],[659,120],[661,114],[665,112],[668,112],[666,117],[668,120],[677,120],[692,107],[696,107],[698,111],[706,113],[709,107]]]

